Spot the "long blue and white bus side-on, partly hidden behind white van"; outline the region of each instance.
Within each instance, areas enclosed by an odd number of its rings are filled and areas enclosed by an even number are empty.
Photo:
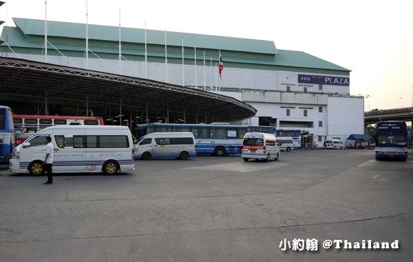
[[[192,132],[198,154],[240,154],[246,125],[148,123],[137,125],[136,138],[153,132]]]

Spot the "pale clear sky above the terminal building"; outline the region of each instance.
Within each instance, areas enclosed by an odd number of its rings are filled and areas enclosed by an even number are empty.
[[[7,0],[3,0],[7,1]],[[8,0],[11,17],[44,19],[44,0]],[[413,0],[88,0],[89,23],[264,39],[352,70],[368,110],[412,105]],[[47,0],[47,19],[85,23],[86,0]],[[6,5],[0,8],[6,19]],[[13,25],[14,26],[14,25]]]

